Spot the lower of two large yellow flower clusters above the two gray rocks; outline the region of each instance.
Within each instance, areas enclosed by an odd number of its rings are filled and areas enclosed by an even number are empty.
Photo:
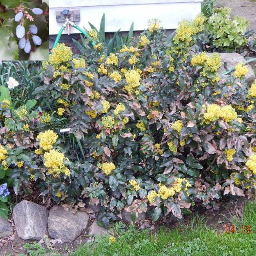
[[[70,175],[69,168],[63,163],[65,156],[63,153],[57,150],[50,150],[44,154],[44,165],[49,169],[49,173],[54,177],[60,175],[61,173],[66,176]]]

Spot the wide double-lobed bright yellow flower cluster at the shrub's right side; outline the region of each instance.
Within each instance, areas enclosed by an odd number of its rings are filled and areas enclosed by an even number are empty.
[[[231,105],[226,105],[221,108],[217,104],[210,104],[207,106],[207,112],[204,114],[204,119],[208,124],[219,118],[223,118],[226,122],[231,122],[232,120],[237,119],[237,117],[237,112]]]

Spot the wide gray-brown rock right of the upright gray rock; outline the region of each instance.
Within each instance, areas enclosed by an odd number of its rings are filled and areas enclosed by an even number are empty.
[[[53,239],[62,242],[72,242],[86,229],[88,214],[77,211],[74,215],[71,210],[65,210],[62,206],[54,206],[49,213],[48,232]]]

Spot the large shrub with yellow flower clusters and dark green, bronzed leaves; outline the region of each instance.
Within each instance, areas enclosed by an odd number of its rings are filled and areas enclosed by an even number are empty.
[[[104,224],[122,210],[180,219],[223,195],[252,196],[255,84],[243,72],[220,77],[218,54],[191,55],[204,22],[183,20],[166,37],[153,20],[109,56],[104,45],[72,56],[59,44],[42,65],[36,102],[0,107],[2,168],[12,169],[15,193],[89,198]]]

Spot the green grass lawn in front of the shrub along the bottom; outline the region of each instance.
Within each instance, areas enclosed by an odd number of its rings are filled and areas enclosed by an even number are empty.
[[[134,227],[124,231],[117,224],[114,243],[110,242],[110,237],[98,237],[94,242],[78,247],[72,255],[256,255],[255,202],[245,207],[242,219],[232,218],[235,233],[217,234],[204,223],[205,220],[194,218],[189,226],[173,230],[161,228],[152,233]],[[251,232],[247,234],[245,228],[243,233],[242,225],[250,225]]]

